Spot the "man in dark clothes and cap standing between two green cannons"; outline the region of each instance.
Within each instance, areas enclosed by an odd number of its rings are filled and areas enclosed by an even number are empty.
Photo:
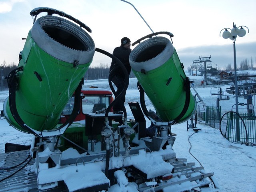
[[[131,50],[131,41],[129,38],[124,37],[121,39],[121,45],[119,47],[114,48],[113,55],[116,56],[125,66],[128,75],[130,75],[131,72],[131,66],[129,63],[129,56],[132,52]],[[111,81],[116,86],[116,96],[118,96],[122,90],[124,89],[125,78],[124,78],[124,72],[122,71],[121,67],[117,64],[116,60],[112,60],[110,70],[112,74]],[[113,113],[114,114],[123,114],[123,106],[125,102],[125,94],[122,96],[122,98],[113,106]]]

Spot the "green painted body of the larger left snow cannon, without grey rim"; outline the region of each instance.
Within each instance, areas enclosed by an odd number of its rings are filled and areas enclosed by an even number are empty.
[[[31,44],[30,53],[27,62],[22,59],[18,65],[24,66],[24,70],[18,74],[16,107],[29,127],[38,131],[51,130],[58,123],[64,106],[90,63],[74,67],[72,63],[60,61],[44,52],[30,39],[30,34],[27,41]],[[40,75],[42,81],[34,72]],[[6,110],[10,113],[9,108]],[[9,121],[15,122],[11,114],[8,117]]]

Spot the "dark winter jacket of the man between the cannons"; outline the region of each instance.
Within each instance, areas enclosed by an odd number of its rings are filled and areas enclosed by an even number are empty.
[[[131,52],[132,52],[131,49],[126,49],[123,46],[116,47],[113,51],[113,55],[116,56],[124,64],[124,66],[128,72],[128,75],[130,75],[130,72],[131,72],[131,66],[129,63],[129,55]],[[118,66],[118,67],[116,67],[116,66]],[[113,59],[111,62],[110,71],[114,67],[116,67],[114,69],[114,73],[120,77],[124,77],[124,73],[121,70],[121,67],[116,63],[116,60]]]

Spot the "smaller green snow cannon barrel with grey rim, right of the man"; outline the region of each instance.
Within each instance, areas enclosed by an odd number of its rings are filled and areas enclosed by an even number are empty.
[[[164,122],[181,123],[196,110],[180,59],[170,40],[157,36],[136,46],[129,57],[132,71]]]

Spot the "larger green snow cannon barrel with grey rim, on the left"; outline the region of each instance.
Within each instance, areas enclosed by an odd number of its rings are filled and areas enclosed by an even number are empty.
[[[21,70],[14,74],[16,109],[26,126],[39,132],[57,126],[94,52],[94,41],[74,22],[51,15],[36,20],[20,52]],[[22,132],[29,132],[13,118],[10,98],[3,106],[7,121]]]

